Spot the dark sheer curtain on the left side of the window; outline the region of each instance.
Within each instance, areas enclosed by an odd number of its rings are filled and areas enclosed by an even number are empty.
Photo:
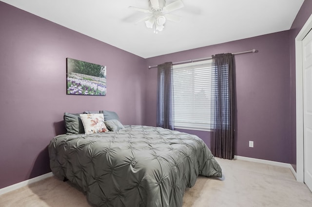
[[[159,127],[174,129],[172,62],[157,66],[157,123]]]

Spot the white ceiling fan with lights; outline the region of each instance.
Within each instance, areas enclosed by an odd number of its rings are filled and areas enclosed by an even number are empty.
[[[165,0],[149,0],[149,5],[149,9],[141,9],[133,6],[129,6],[129,8],[151,14],[148,17],[138,20],[136,23],[145,21],[146,27],[154,28],[154,33],[156,34],[158,31],[163,30],[166,20],[179,22],[182,19],[182,17],[169,14],[170,12],[184,7],[182,0],[176,0],[168,5],[166,5]]]

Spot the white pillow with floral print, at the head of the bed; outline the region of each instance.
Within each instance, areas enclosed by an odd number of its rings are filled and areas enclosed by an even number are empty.
[[[103,114],[80,114],[85,134],[108,132]]]

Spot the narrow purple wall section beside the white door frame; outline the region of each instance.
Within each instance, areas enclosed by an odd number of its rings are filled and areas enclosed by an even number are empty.
[[[305,0],[292,23],[290,30],[290,75],[291,75],[291,157],[289,163],[296,169],[296,67],[295,67],[295,41],[294,39],[312,15],[312,0]]]

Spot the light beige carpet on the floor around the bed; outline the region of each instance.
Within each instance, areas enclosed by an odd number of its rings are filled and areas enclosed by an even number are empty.
[[[223,178],[199,176],[183,207],[311,207],[312,192],[288,168],[225,160]],[[0,196],[1,207],[90,207],[83,192],[53,177]]]

